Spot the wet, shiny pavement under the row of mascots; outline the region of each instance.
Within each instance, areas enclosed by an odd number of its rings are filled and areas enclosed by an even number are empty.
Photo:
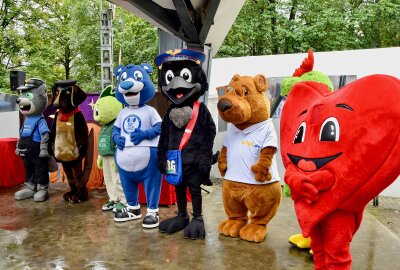
[[[50,200],[15,201],[18,187],[0,187],[0,269],[313,269],[307,252],[289,246],[299,227],[291,199],[284,197],[263,243],[220,236],[225,219],[221,188],[203,194],[206,240],[187,240],[182,232],[164,235],[145,230],[141,220],[116,223],[102,212],[104,190],[90,200],[64,202],[66,184],[50,187]],[[161,207],[160,218],[176,206]],[[145,207],[142,209],[145,214]],[[400,240],[365,212],[351,245],[353,269],[398,269]]]

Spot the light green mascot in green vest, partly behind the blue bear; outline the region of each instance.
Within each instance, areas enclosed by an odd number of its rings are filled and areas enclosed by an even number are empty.
[[[97,167],[103,170],[104,183],[109,197],[108,203],[101,208],[103,211],[117,212],[126,207],[125,195],[114,162],[115,143],[112,139],[114,122],[122,109],[122,103],[115,98],[115,92],[110,85],[101,92],[93,110],[93,119],[102,126],[97,148],[99,153]]]

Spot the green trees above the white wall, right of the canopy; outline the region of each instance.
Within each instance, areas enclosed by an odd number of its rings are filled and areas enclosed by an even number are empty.
[[[217,57],[400,46],[400,0],[247,0]]]

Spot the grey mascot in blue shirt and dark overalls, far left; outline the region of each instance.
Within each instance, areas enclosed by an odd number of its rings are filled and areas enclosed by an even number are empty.
[[[47,88],[43,81],[30,79],[18,87],[17,103],[24,124],[15,153],[22,157],[25,167],[25,188],[15,193],[16,200],[33,198],[43,202],[49,198],[48,143],[50,130],[43,116],[47,107]]]

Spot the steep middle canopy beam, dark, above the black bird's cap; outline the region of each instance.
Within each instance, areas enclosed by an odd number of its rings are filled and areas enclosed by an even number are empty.
[[[188,0],[172,0],[181,22],[182,30],[191,43],[200,43],[195,26],[195,10]]]

